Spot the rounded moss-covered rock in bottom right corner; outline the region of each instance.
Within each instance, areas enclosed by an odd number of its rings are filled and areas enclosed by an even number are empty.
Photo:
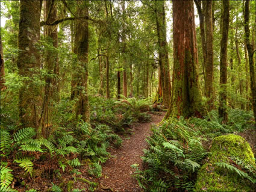
[[[195,191],[254,191],[248,179],[216,166],[223,162],[232,165],[232,159],[242,159],[244,163],[255,167],[251,147],[239,135],[222,135],[213,140],[213,144],[205,163],[198,172]]]

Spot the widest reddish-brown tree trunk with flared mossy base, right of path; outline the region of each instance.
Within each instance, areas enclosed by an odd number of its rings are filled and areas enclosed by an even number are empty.
[[[167,117],[202,117],[193,1],[173,1],[173,90]]]

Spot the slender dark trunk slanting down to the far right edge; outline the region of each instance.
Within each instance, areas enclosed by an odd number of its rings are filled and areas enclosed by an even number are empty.
[[[250,29],[249,29],[249,14],[250,14],[250,8],[249,8],[249,0],[245,1],[245,11],[244,11],[244,17],[245,17],[245,43],[246,48],[248,51],[248,57],[249,57],[249,70],[250,70],[250,79],[251,79],[251,90],[252,90],[252,109],[254,111],[254,118],[256,120],[256,82],[255,82],[255,69],[254,69],[254,50],[253,46],[250,43]]]

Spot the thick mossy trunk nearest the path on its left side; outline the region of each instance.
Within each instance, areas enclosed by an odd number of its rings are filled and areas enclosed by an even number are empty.
[[[77,0],[76,15],[88,16],[88,5],[86,1]],[[74,106],[76,118],[81,116],[81,120],[89,122],[90,111],[87,95],[88,78],[88,50],[89,50],[89,27],[87,20],[75,20],[74,53],[77,55],[79,70],[75,75],[74,98],[77,99]]]

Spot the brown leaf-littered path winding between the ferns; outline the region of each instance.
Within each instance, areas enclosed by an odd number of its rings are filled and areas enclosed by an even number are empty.
[[[136,179],[132,177],[133,164],[139,164],[142,168],[143,149],[147,143],[145,138],[151,134],[151,125],[161,122],[164,113],[151,114],[152,122],[135,125],[133,132],[128,137],[123,136],[122,147],[110,149],[114,157],[102,165],[102,177],[99,179],[99,191],[141,191]],[[108,190],[107,190],[108,189]]]

